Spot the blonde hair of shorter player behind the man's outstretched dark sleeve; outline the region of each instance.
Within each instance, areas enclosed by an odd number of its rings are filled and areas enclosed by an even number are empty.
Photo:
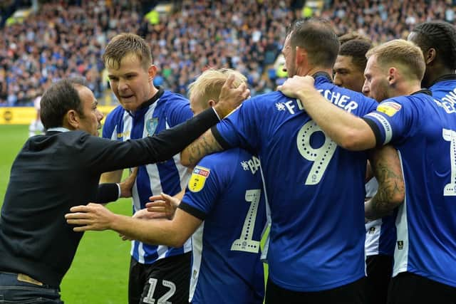
[[[189,98],[195,98],[198,102],[205,102],[207,100],[219,101],[220,91],[229,75],[234,75],[234,87],[239,87],[242,83],[247,82],[247,78],[239,73],[237,70],[231,68],[221,68],[219,70],[209,69],[199,75],[197,80],[190,83]]]

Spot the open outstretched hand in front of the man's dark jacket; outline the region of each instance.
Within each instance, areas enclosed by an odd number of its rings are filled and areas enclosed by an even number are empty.
[[[115,221],[115,214],[100,204],[74,206],[70,211],[71,213],[65,214],[65,219],[68,224],[81,225],[73,228],[76,232],[110,229],[111,223]]]

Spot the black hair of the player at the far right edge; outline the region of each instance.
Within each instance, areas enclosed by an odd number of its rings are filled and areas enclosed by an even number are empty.
[[[430,21],[419,24],[412,32],[417,33],[415,43],[423,53],[435,48],[435,60],[447,68],[456,69],[456,30],[452,24],[445,21]]]

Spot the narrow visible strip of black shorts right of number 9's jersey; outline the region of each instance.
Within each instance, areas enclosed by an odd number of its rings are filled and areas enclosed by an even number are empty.
[[[366,303],[386,304],[388,286],[393,273],[393,256],[378,254],[366,258]]]

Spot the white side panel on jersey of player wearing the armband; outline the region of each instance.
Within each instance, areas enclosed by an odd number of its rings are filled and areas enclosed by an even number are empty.
[[[398,151],[400,160],[400,169],[404,176],[402,156]],[[396,218],[396,229],[398,231],[398,239],[394,248],[394,267],[393,277],[398,273],[407,271],[408,268],[408,219],[407,219],[407,184],[405,184],[405,198],[402,205],[399,206],[398,216]],[[400,243],[402,242],[402,243]]]

